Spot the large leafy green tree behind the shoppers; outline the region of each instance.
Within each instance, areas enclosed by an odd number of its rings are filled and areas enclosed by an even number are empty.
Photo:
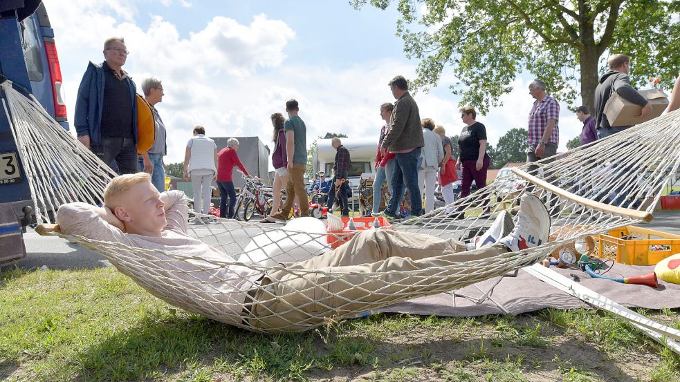
[[[350,1],[355,8],[367,2],[381,9],[397,3],[397,35],[407,57],[420,60],[416,88],[437,85],[446,70],[457,79],[452,93],[483,113],[499,105],[522,70],[569,104],[580,83],[582,104],[592,110],[607,55],[631,55],[638,86],[654,76],[668,88],[680,68],[677,0]]]

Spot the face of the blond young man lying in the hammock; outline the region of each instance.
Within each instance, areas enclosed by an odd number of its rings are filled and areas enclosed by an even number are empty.
[[[135,184],[122,195],[120,207],[122,213],[116,211],[116,216],[125,222],[128,233],[151,236],[160,233],[167,225],[163,208],[165,202],[160,200],[160,193],[149,182]]]

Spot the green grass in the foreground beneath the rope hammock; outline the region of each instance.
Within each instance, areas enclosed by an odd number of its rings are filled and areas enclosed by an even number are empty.
[[[677,326],[677,312],[644,314]],[[0,379],[8,381],[608,381],[639,359],[633,379],[680,379],[677,355],[585,309],[376,314],[262,335],[175,309],[113,268],[0,273]]]

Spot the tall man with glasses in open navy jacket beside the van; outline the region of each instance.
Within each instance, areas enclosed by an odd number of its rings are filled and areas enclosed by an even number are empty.
[[[121,174],[137,172],[137,89],[122,70],[128,53],[121,37],[104,41],[104,62],[88,64],[74,117],[78,140]]]

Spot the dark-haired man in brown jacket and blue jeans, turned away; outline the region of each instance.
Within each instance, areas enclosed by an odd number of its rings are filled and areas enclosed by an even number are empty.
[[[401,75],[394,77],[389,82],[389,88],[396,102],[392,120],[389,122],[389,131],[380,144],[380,154],[385,155],[385,151],[389,150],[390,153],[396,154],[396,157],[390,180],[392,198],[389,198],[389,205],[380,216],[388,221],[394,221],[399,216],[404,185],[411,197],[410,215],[423,214],[423,201],[418,188],[418,158],[421,156],[421,148],[425,146],[425,140],[418,105],[408,93],[406,79]]]

